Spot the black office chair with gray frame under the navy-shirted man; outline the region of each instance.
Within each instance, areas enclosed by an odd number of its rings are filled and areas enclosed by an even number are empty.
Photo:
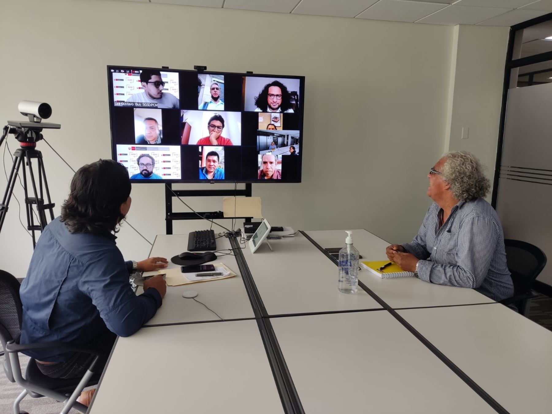
[[[21,337],[21,322],[23,306],[19,298],[19,282],[13,275],[0,270],[0,342],[4,355],[4,372],[11,383],[17,383],[24,388],[13,404],[14,414],[23,413],[19,410],[20,402],[26,395],[33,398],[50,397],[64,403],[62,414],[67,414],[71,408],[86,413],[87,407],[77,402],[78,396],[87,386],[98,384],[101,371],[95,373],[100,354],[92,349],[73,346],[61,342],[44,342],[33,344],[19,344]],[[97,355],[82,377],[73,379],[50,378],[40,372],[35,360],[31,358],[25,371],[25,378],[21,374],[19,352],[36,349],[56,349],[61,352],[84,352]]]

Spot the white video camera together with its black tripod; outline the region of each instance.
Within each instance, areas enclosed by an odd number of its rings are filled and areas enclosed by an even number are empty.
[[[12,170],[9,174],[4,198],[2,199],[2,203],[0,203],[0,231],[2,231],[2,225],[4,224],[4,219],[6,219],[9,200],[12,198],[13,188],[19,174],[19,168],[23,165],[22,176],[23,189],[25,191],[27,229],[32,232],[34,247],[36,245],[35,230],[43,231],[44,227],[46,227],[46,210],[50,210],[50,220],[54,220],[53,208],[55,206],[50,200],[50,191],[46,181],[42,153],[36,150],[36,142],[43,139],[43,135],[41,134],[43,129],[60,129],[61,125],[42,122],[43,119],[50,118],[52,114],[52,108],[45,102],[23,100],[19,103],[18,109],[22,115],[29,117],[29,121],[8,121],[8,124],[3,128],[2,136],[0,136],[0,146],[2,146],[2,143],[9,134],[14,135],[15,139],[19,141],[20,146],[13,154]],[[33,158],[36,158],[38,164],[38,187],[36,186],[35,174],[31,163]],[[34,197],[28,196],[27,169]],[[44,193],[46,194],[47,203],[44,203]],[[33,210],[33,205],[36,205],[36,212]],[[38,218],[38,223],[35,223],[35,214]]]

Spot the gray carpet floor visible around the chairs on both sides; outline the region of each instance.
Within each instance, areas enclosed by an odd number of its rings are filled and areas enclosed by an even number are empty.
[[[538,298],[531,300],[529,319],[552,331],[552,298],[539,294]],[[0,365],[3,357],[0,357]],[[20,358],[23,369],[29,358],[22,355]],[[6,378],[3,371],[0,373],[0,414],[13,413],[13,401],[22,389],[17,384],[12,384]],[[57,414],[63,404],[49,398],[34,399],[26,396],[20,404],[20,408],[29,414]],[[70,414],[78,414],[77,410],[71,410]]]

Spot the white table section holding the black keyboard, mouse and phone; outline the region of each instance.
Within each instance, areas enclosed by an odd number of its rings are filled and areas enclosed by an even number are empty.
[[[198,226],[205,226],[203,222],[193,220],[190,223],[191,230],[200,230]],[[206,223],[206,222],[205,222]],[[231,248],[230,241],[226,237],[216,240],[218,250]],[[161,256],[169,260],[168,268],[179,268],[180,266],[171,263],[171,257],[187,251],[188,235],[158,235],[153,242],[150,257]],[[221,254],[221,253],[216,253]],[[253,309],[243,280],[240,275],[240,269],[236,263],[236,258],[227,254],[221,256],[212,263],[224,263],[237,276],[221,280],[211,280],[210,282],[198,282],[180,286],[167,286],[167,294],[163,299],[163,305],[157,310],[155,316],[146,323],[145,326],[160,325],[165,323],[184,323],[218,320],[216,315],[205,309],[193,299],[182,297],[185,290],[195,290],[198,292],[197,300],[203,302],[210,309],[219,314],[222,319],[242,319],[254,318]],[[210,262],[211,263],[211,262]],[[145,275],[156,274],[157,272],[146,272]],[[136,291],[142,293],[142,288]]]

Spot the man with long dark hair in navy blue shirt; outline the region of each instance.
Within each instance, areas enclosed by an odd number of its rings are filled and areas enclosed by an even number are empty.
[[[132,335],[155,315],[167,289],[163,278],[147,280],[144,293],[136,296],[129,275],[167,267],[167,259],[125,262],[115,245],[114,233],[130,209],[130,189],[125,167],[115,161],[79,168],[61,216],[46,226],[36,243],[21,285],[20,343],[94,348],[105,354],[100,361],[105,364],[117,335]],[[82,376],[93,359],[55,349],[26,354],[51,378]]]

